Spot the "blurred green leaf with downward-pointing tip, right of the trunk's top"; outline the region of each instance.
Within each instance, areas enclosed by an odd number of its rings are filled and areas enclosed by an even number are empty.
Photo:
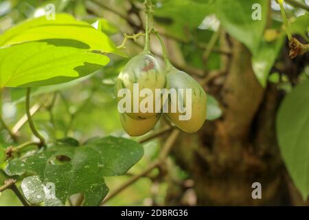
[[[285,34],[281,34],[276,41],[262,40],[258,52],[251,59],[253,71],[262,87],[266,87],[268,75],[284,43]]]

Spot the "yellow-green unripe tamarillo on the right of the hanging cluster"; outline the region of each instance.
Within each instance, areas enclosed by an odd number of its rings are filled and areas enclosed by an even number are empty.
[[[183,89],[184,91],[186,89],[192,89],[192,103],[186,103],[187,97],[185,97],[185,92],[183,94],[179,94],[181,99],[183,100],[183,108],[190,109],[187,108],[186,105],[192,104],[192,114],[189,120],[179,120],[179,115],[183,113],[181,113],[179,111],[179,108],[177,108],[176,113],[172,113],[169,110],[168,113],[166,113],[165,115],[177,127],[179,127],[179,129],[187,133],[194,133],[198,131],[199,129],[201,129],[201,126],[203,126],[207,116],[207,97],[203,87],[201,87],[201,85],[198,84],[198,82],[196,82],[194,78],[176,68],[172,68],[172,70],[168,72],[166,78],[168,89],[176,89],[177,94],[179,93],[179,89]]]

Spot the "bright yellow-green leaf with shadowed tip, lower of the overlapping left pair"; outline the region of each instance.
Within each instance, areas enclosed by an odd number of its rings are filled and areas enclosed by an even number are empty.
[[[23,43],[1,49],[0,88],[65,83],[87,76],[109,62],[102,54],[55,46],[58,43],[62,45],[62,40]]]

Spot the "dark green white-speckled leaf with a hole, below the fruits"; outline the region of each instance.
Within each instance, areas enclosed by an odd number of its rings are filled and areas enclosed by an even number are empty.
[[[124,175],[143,152],[141,144],[133,140],[104,137],[84,146],[51,146],[13,159],[5,171],[8,175],[32,174],[21,184],[31,203],[44,201],[45,206],[59,206],[71,195],[82,193],[84,206],[98,206],[108,192],[103,177]],[[46,188],[52,188],[54,194],[50,190],[47,193]]]

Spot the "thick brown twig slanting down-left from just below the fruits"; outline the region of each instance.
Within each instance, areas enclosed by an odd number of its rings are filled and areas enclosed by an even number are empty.
[[[131,184],[135,183],[135,181],[137,181],[137,179],[144,177],[145,175],[148,175],[148,173],[150,173],[151,170],[159,167],[161,165],[161,163],[165,160],[165,158],[168,156],[168,153],[170,153],[170,150],[171,150],[172,146],[174,145],[174,142],[176,141],[176,138],[178,137],[179,133],[180,133],[180,131],[178,129],[174,129],[172,131],[172,133],[170,133],[165,144],[163,145],[161,153],[159,155],[159,159],[157,159],[155,162],[152,162],[152,164],[150,164],[148,166],[148,168],[146,168],[146,170],[139,173],[139,175],[136,175],[136,176],[132,177],[131,179],[128,179],[128,181],[126,181],[124,184],[122,184],[122,186],[119,186],[115,191],[111,192],[104,199],[104,201],[102,201],[101,206],[104,205],[104,203],[106,203],[108,200],[115,197],[115,195],[117,195],[119,192],[122,192],[122,190],[124,190],[125,188],[127,188]]]

